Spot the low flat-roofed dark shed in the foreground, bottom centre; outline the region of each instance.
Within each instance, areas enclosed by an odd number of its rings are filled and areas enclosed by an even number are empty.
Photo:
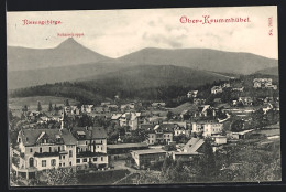
[[[131,152],[138,168],[146,168],[156,162],[164,161],[167,152],[163,149],[135,150]]]

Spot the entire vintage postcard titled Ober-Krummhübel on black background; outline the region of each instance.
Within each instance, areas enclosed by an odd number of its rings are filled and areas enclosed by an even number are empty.
[[[10,186],[282,180],[277,7],[7,13]]]

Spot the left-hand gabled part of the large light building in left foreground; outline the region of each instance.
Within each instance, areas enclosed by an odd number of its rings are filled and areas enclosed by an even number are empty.
[[[76,166],[76,139],[65,128],[22,129],[13,150],[16,175],[36,178],[37,171]]]

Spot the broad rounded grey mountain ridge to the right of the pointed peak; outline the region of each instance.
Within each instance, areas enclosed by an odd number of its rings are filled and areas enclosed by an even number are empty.
[[[223,52],[209,49],[165,50],[147,47],[118,58],[118,62],[176,65],[222,73],[251,74],[256,71],[278,66],[272,60],[250,53]]]

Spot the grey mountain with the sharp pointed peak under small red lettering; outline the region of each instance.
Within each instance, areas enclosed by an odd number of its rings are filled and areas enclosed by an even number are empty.
[[[54,49],[7,47],[8,71],[25,71],[96,63],[109,57],[96,53],[69,38]]]

